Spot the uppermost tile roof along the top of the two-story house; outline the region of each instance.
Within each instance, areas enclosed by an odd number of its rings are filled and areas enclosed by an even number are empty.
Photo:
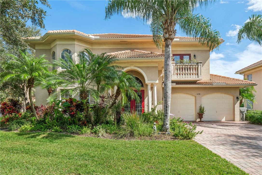
[[[49,30],[47,33],[69,33],[75,32],[86,36],[94,36],[99,38],[152,38],[153,35],[148,34],[122,34],[122,33],[101,33],[101,34],[86,34],[78,30]],[[35,39],[35,37],[27,37],[23,39]],[[175,37],[175,40],[181,41],[193,41],[196,40],[194,37]],[[222,40],[222,38],[221,38]]]

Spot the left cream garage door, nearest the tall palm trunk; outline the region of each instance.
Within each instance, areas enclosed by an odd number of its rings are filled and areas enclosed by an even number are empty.
[[[180,117],[185,121],[195,121],[195,97],[189,94],[172,94],[170,118]]]

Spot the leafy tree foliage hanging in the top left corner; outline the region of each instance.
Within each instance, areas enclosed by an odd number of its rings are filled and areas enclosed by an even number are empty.
[[[51,8],[47,0],[40,0],[43,6]],[[28,21],[40,28],[45,28],[44,19],[47,16],[46,11],[39,7],[39,1],[36,0],[0,0],[0,30],[3,40],[12,46],[26,48],[27,44],[23,42],[22,37],[31,37]],[[24,52],[24,50],[23,50]]]

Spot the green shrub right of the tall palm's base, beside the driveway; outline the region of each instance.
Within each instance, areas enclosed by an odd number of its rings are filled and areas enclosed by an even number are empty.
[[[203,132],[203,130],[196,131],[196,125],[194,125],[192,122],[183,122],[183,119],[181,119],[181,117],[170,120],[170,130],[174,132],[175,137],[182,140],[193,139],[196,135],[202,134]]]

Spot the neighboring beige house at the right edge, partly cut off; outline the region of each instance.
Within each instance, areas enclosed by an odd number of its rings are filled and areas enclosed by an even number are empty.
[[[256,103],[249,101],[253,104],[253,110],[262,110],[262,60],[251,64],[243,69],[236,71],[235,74],[240,74],[244,76],[244,79],[248,81],[255,81],[257,86],[255,86],[256,92]],[[248,109],[252,109],[248,103],[246,103]]]

